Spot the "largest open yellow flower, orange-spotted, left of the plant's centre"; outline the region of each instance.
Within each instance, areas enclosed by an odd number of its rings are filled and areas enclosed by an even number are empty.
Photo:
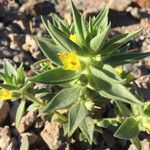
[[[79,56],[73,52],[70,53],[59,53],[59,58],[63,64],[64,70],[78,70],[81,67]]]

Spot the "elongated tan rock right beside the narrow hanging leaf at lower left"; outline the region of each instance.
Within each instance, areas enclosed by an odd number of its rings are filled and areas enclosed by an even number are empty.
[[[37,118],[37,113],[38,111],[33,111],[33,112],[28,112],[22,119],[20,122],[20,125],[18,127],[18,131],[19,133],[24,133],[25,131],[27,131],[35,122],[36,118]]]

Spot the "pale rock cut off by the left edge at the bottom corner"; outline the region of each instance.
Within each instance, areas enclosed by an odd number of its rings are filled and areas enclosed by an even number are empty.
[[[0,128],[0,149],[7,150],[10,143],[11,143],[10,128],[8,126]]]

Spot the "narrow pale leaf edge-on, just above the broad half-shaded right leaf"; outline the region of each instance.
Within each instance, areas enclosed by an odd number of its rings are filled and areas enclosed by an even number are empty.
[[[97,78],[100,78],[101,80],[107,81],[107,82],[114,82],[114,83],[121,83],[123,82],[120,80],[116,80],[114,78],[109,77],[106,73],[103,72],[103,69],[99,70],[96,69],[95,67],[90,67],[91,73],[96,76]]]

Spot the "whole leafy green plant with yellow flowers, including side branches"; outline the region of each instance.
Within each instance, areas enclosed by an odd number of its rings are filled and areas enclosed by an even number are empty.
[[[71,24],[56,15],[52,16],[52,22],[42,17],[51,38],[34,37],[46,56],[32,67],[34,77],[25,78],[22,65],[16,70],[5,61],[4,72],[0,73],[3,80],[0,100],[21,99],[16,125],[28,99],[33,101],[29,110],[40,108],[41,115],[48,117],[56,114],[56,121],[68,137],[76,133],[80,140],[92,144],[96,143],[95,131],[119,126],[114,136],[130,140],[140,149],[139,131],[150,133],[150,102],[144,102],[134,81],[130,84],[130,74],[118,66],[150,56],[150,53],[128,52],[127,43],[141,29],[110,39],[107,6],[88,21],[72,2],[71,10]],[[47,88],[34,90],[34,83],[46,84]],[[52,92],[54,86],[61,90]],[[99,111],[107,100],[115,105],[115,117],[97,117],[95,110]]]

